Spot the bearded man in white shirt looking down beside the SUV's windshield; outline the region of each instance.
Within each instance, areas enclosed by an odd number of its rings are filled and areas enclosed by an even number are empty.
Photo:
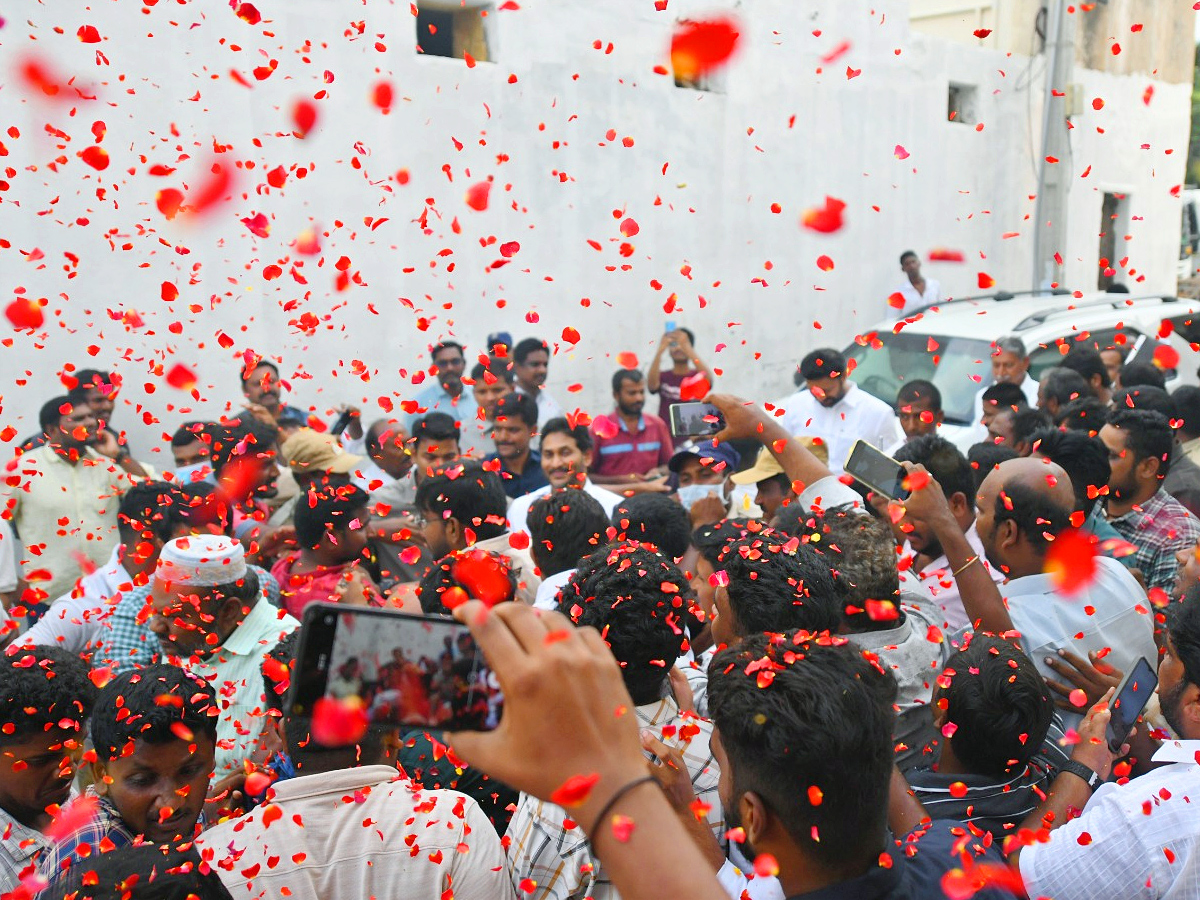
[[[812,350],[800,361],[803,390],[775,403],[785,410],[779,424],[792,434],[811,434],[824,442],[829,470],[844,472],[856,440],[876,448],[900,438],[895,410],[848,378],[846,358],[832,348]]]

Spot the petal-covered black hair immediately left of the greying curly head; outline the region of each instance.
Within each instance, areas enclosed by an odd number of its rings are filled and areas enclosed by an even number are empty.
[[[836,631],[842,592],[828,562],[798,538],[764,532],[728,541],[719,558],[739,637],[760,631]]]

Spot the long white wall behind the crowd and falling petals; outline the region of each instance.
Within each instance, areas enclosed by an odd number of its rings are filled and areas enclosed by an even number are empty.
[[[712,10],[708,4],[670,0],[656,12],[652,0],[521,0],[520,11],[492,13],[497,61],[474,68],[419,58],[407,2],[259,0],[258,26],[224,4],[90,6],[22,5],[0,30],[2,126],[19,130],[18,138],[0,134],[8,154],[0,168],[10,167],[0,236],[11,242],[0,250],[0,298],[7,304],[24,287],[49,300],[38,335],[13,334],[0,320],[11,341],[0,347],[0,424],[22,433],[32,430],[31,416],[66,361],[114,362],[127,385],[116,424],[154,460],[161,456],[146,450],[163,431],[240,401],[238,360],[246,348],[282,356],[293,397],[320,412],[364,403],[373,418],[378,397],[398,406],[410,396],[414,368],[427,364],[426,347],[442,336],[478,352],[491,330],[556,341],[564,325],[577,328],[582,341],[554,358],[551,388],[564,406],[595,410],[608,404],[612,358],[631,350],[644,360],[667,318],[697,332],[701,353],[725,372],[724,388],[770,397],[788,390],[805,350],[842,344],[878,318],[902,250],[966,252],[964,265],[925,266],[960,295],[977,290],[979,271],[998,286],[1024,288],[1031,278],[1040,78],[1030,78],[1024,58],[911,35],[900,0],[870,10],[836,0],[744,4],[744,48],[721,76],[720,94],[679,90],[653,72],[666,62],[674,19]],[[346,36],[353,20],[366,23],[364,35]],[[80,43],[76,31],[84,24],[103,42]],[[594,41],[612,42],[612,53],[593,49]],[[842,41],[850,52],[817,74],[820,58]],[[97,64],[97,50],[108,64]],[[12,76],[29,52],[97,85],[98,100],[31,96]],[[278,60],[277,70],[254,82],[251,70],[269,59]],[[847,79],[847,65],[862,74]],[[253,86],[233,80],[232,68]],[[1032,73],[1040,70],[1038,60]],[[1169,191],[1182,175],[1190,89],[1154,83],[1147,107],[1141,97],[1152,82],[1145,77],[1076,76],[1088,88],[1088,107],[1069,161],[1076,175],[1073,244],[1064,252],[1070,276],[1085,289],[1094,286],[1094,192],[1118,186],[1130,192],[1139,220],[1133,239],[1122,241],[1129,264],[1146,274],[1145,288],[1171,289],[1178,202]],[[383,77],[396,91],[389,115],[370,102]],[[982,132],[944,120],[952,79],[978,84]],[[288,109],[320,90],[328,92],[317,101],[320,122],[299,140]],[[1092,112],[1092,96],[1105,98],[1102,113]],[[92,143],[96,120],[107,124],[103,146],[112,155],[102,173],[77,158]],[[614,142],[606,140],[610,128]],[[622,145],[626,136],[634,146]],[[193,184],[214,142],[230,148],[218,158],[254,168],[240,170],[233,199],[202,222],[164,221],[156,190]],[[1151,149],[1139,150],[1142,143]],[[895,158],[896,144],[907,160]],[[152,178],[154,163],[178,172]],[[278,164],[311,174],[293,173],[282,191],[264,188],[266,169]],[[1091,175],[1079,179],[1088,164]],[[407,186],[392,178],[401,168],[412,174]],[[487,176],[496,179],[491,208],[472,211],[464,191]],[[826,194],[847,202],[846,228],[828,236],[805,232],[802,211]],[[414,220],[426,198],[430,230],[422,233]],[[772,212],[773,203],[781,214]],[[254,238],[239,222],[256,212],[271,217],[270,238]],[[365,216],[388,221],[372,230]],[[625,216],[641,227],[628,259],[618,251]],[[288,259],[289,244],[313,222],[330,234],[323,264],[304,258],[308,284],[294,282],[286,263],[283,277],[264,281],[263,268]],[[1003,239],[1007,232],[1020,236]],[[480,246],[493,236],[496,244]],[[512,262],[488,271],[499,245],[514,240],[521,250]],[[35,248],[38,259],[28,256]],[[439,256],[443,250],[452,253]],[[817,269],[821,254],[835,260],[833,271]],[[341,256],[365,287],[334,290]],[[163,281],[179,284],[172,304],[160,299]],[[679,311],[667,316],[662,305],[672,292]],[[284,311],[286,304],[295,308]],[[108,311],[137,311],[145,324],[125,326]],[[323,319],[312,338],[288,325],[302,312]],[[532,316],[536,325],[527,324]],[[431,322],[428,330],[418,330],[419,318]],[[173,322],[182,323],[181,334],[169,331]],[[235,340],[233,349],[216,346],[218,331]],[[92,344],[101,348],[95,359],[85,350]],[[353,360],[366,364],[368,380],[352,371]],[[175,361],[199,374],[200,403],[155,374]],[[568,392],[576,383],[584,389]],[[143,426],[143,410],[161,424]]]

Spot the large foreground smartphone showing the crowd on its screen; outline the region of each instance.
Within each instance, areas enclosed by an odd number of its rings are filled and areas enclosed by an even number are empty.
[[[490,731],[504,698],[469,629],[439,616],[342,604],[304,611],[289,714],[359,700],[371,725]]]

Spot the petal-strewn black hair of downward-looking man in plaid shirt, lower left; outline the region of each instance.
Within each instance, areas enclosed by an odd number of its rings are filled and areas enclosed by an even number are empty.
[[[179,666],[155,664],[114,674],[101,689],[91,710],[91,740],[102,762],[122,756],[136,740],[180,740],[180,725],[216,743],[218,715],[212,685]]]

